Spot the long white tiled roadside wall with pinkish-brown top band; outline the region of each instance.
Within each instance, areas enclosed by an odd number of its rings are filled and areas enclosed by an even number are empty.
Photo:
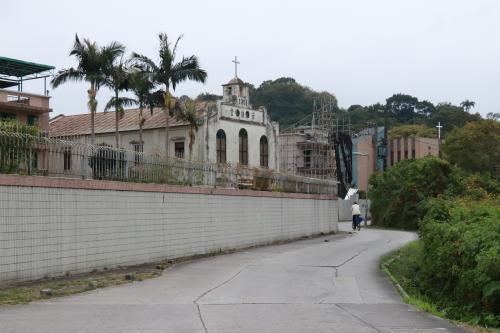
[[[334,197],[0,175],[0,285],[338,230]]]

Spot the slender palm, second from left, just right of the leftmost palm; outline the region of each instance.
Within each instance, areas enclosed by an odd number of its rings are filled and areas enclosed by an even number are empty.
[[[127,97],[119,97],[120,91],[128,90],[130,86],[130,73],[123,59],[109,64],[104,69],[103,84],[113,90],[115,95],[106,104],[104,111],[115,109],[115,135],[116,148],[120,145],[119,121],[123,117],[124,106],[132,105],[135,101]]]

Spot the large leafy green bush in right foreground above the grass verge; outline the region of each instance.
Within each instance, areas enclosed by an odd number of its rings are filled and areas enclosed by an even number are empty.
[[[496,198],[431,200],[420,224],[420,292],[451,318],[500,326],[500,208]]]

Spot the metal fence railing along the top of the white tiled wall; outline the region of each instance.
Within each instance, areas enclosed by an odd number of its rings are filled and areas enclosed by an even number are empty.
[[[337,194],[333,180],[195,162],[0,130],[0,173],[262,191]]]

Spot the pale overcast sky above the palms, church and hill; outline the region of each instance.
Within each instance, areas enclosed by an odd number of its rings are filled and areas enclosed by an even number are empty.
[[[116,40],[156,59],[159,32],[183,34],[179,55],[196,54],[205,84],[176,95],[221,94],[234,76],[258,86],[282,76],[335,94],[342,107],[407,93],[433,103],[476,102],[500,112],[500,1],[2,1],[0,55],[76,65],[75,33]],[[83,83],[51,89],[52,116],[87,112]],[[43,84],[25,91],[43,92]],[[110,92],[99,91],[99,111]]]

